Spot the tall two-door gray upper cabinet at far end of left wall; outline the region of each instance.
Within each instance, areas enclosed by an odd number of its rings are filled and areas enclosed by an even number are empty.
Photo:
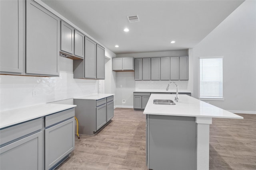
[[[85,37],[84,60],[73,61],[74,78],[104,79],[105,49]]]

